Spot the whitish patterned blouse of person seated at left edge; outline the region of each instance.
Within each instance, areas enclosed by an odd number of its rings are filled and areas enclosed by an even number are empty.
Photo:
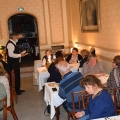
[[[5,86],[6,94],[7,94],[7,106],[10,106],[10,87],[8,79],[5,76],[0,76],[0,83]]]

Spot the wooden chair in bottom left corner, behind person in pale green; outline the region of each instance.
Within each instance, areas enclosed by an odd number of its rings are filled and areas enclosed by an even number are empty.
[[[3,99],[1,99],[0,103],[2,104],[2,108],[3,108],[3,110],[2,110],[3,111],[3,120],[7,120],[7,96],[5,96]]]

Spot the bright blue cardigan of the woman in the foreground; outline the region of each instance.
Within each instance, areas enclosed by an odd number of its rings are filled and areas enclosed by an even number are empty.
[[[110,117],[115,115],[115,107],[113,100],[106,90],[102,90],[94,99],[90,96],[88,108],[85,115],[89,114],[86,120]]]

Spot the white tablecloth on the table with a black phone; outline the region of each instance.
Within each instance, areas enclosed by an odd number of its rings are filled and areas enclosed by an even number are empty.
[[[52,87],[48,86],[49,83],[45,83],[45,92],[44,92],[44,100],[46,102],[46,104],[51,105],[50,110],[51,110],[51,114],[50,114],[50,119],[52,119],[55,115],[55,107],[60,106],[64,100],[61,99],[58,95],[58,90],[59,88],[57,88],[57,91],[52,91]]]

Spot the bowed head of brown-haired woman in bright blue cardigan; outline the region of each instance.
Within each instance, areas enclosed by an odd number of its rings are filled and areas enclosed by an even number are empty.
[[[89,94],[95,94],[99,88],[103,88],[101,81],[94,75],[87,75],[80,81],[80,85],[85,87]]]

